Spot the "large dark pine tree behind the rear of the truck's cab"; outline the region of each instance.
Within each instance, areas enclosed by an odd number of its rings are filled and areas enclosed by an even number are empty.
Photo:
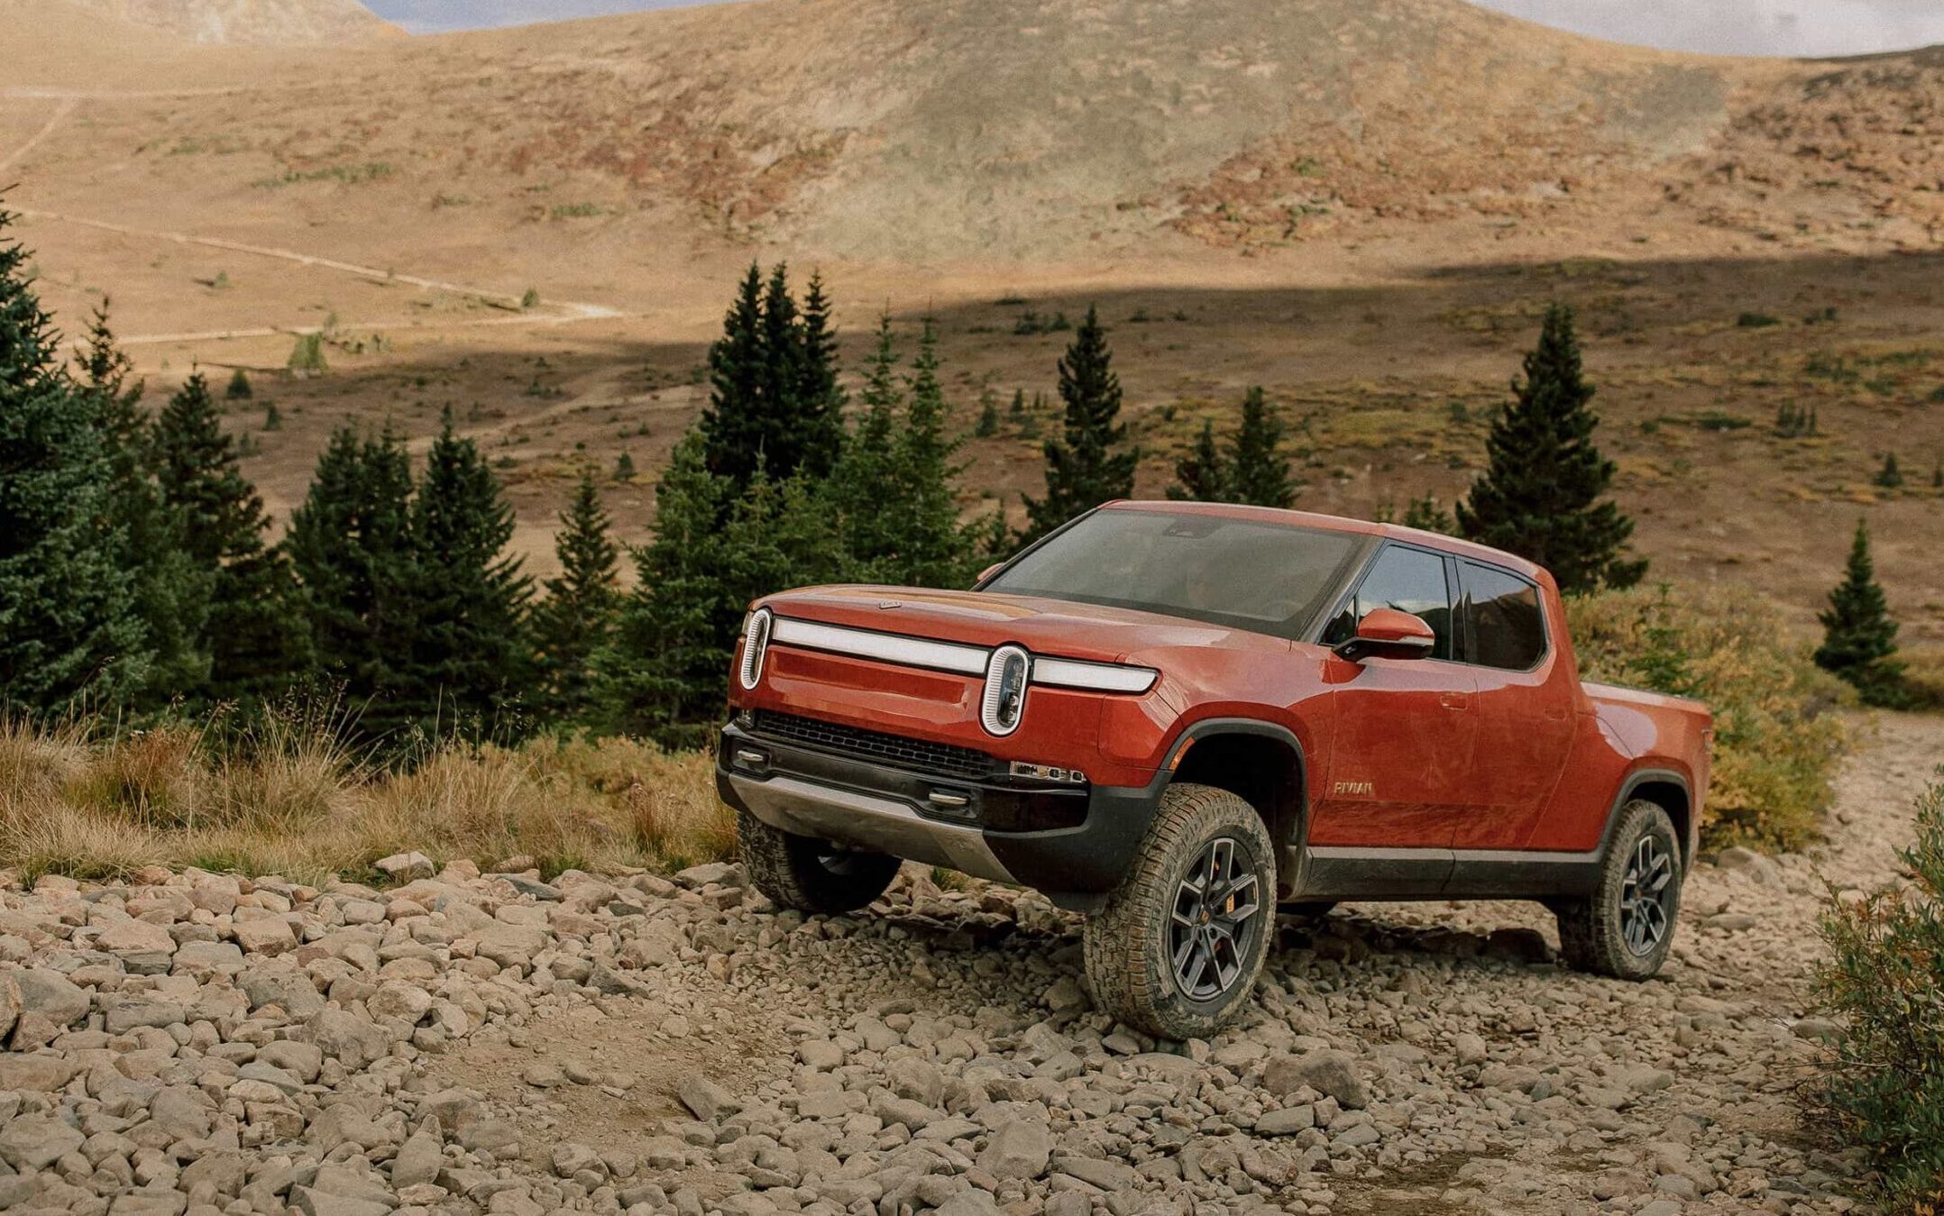
[[[1524,373],[1512,381],[1514,400],[1491,420],[1489,466],[1458,503],[1460,532],[1538,561],[1567,592],[1639,583],[1647,561],[1625,557],[1633,521],[1602,499],[1614,462],[1592,443],[1594,388],[1580,373],[1565,305],[1545,311]]]

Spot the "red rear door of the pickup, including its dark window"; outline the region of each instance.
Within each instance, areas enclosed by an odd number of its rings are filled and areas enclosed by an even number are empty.
[[[1460,637],[1477,695],[1472,808],[1454,849],[1520,849],[1538,828],[1573,750],[1573,668],[1547,635],[1545,602],[1526,579],[1460,561]]]

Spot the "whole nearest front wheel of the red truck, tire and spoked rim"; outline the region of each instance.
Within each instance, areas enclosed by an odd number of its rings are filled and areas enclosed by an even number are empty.
[[[1133,870],[1087,919],[1087,981],[1128,1026],[1207,1039],[1254,991],[1273,919],[1275,853],[1256,808],[1170,785]]]

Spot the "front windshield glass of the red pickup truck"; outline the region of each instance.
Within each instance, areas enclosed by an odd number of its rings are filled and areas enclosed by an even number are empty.
[[[1094,511],[982,591],[1302,637],[1363,536],[1176,511]]]

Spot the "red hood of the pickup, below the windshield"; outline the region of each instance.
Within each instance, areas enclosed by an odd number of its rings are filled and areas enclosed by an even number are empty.
[[[805,587],[758,602],[778,616],[978,647],[1017,643],[1034,655],[1139,662],[1178,647],[1277,649],[1289,643],[1178,616],[976,591]]]

